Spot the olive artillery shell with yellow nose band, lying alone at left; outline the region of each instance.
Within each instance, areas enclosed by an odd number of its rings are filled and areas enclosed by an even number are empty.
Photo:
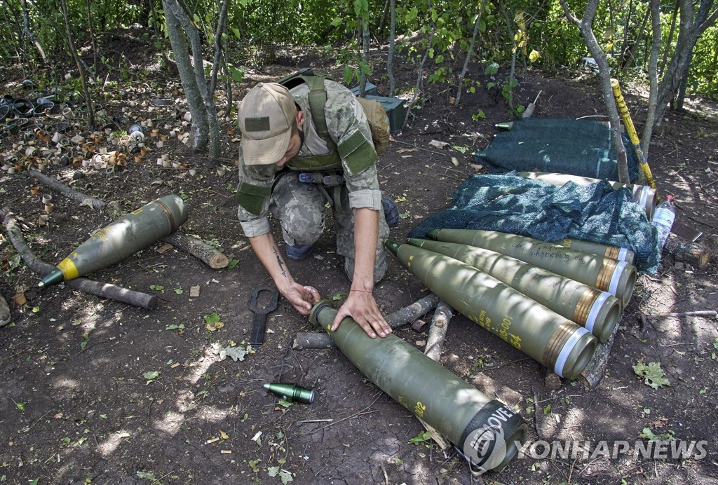
[[[107,268],[172,234],[187,221],[185,201],[174,194],[160,197],[95,232],[78,246],[39,286],[85,276]]]

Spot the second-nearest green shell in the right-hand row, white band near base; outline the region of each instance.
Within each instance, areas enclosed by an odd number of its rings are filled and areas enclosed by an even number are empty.
[[[565,276],[488,249],[452,242],[410,239],[409,244],[460,260],[571,319],[606,342],[621,318],[617,298]]]

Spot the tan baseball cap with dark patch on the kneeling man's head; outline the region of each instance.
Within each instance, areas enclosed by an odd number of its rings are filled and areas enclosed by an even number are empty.
[[[283,85],[258,83],[239,105],[239,129],[246,165],[274,164],[286,153],[297,117],[294,98]]]

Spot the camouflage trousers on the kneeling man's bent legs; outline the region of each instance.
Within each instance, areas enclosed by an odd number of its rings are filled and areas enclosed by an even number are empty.
[[[340,193],[341,204],[327,200],[327,196],[317,184],[299,182],[298,172],[282,175],[272,191],[269,209],[275,219],[281,223],[281,233],[288,245],[312,245],[319,240],[327,223],[327,208],[332,205],[332,215],[337,232],[337,254],[343,256],[344,270],[349,279],[354,276],[354,212],[349,207],[349,191],[345,185],[326,187],[330,197]],[[389,237],[389,227],[384,220],[383,209],[379,209],[379,237],[376,242],[374,260],[374,283],[378,283],[386,274],[386,253],[382,243]]]

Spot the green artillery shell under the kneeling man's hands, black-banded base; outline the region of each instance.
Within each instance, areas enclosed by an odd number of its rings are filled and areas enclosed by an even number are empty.
[[[393,334],[372,339],[350,317],[331,331],[337,311],[322,300],[309,318],[325,329],[347,358],[374,384],[463,449],[472,462],[499,469],[526,441],[526,422],[416,347]],[[490,436],[488,449],[482,442]]]

